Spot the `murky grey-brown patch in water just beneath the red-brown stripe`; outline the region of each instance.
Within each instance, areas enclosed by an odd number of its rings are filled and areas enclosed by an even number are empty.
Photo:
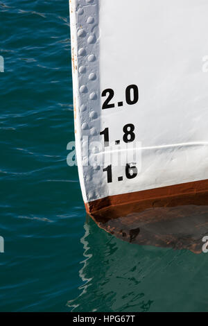
[[[202,252],[202,239],[208,234],[207,205],[152,207],[142,212],[134,207],[136,212],[129,213],[130,206],[108,207],[92,217],[100,228],[130,243]]]

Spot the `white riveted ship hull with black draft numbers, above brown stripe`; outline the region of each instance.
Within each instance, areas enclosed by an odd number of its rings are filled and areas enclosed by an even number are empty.
[[[208,179],[207,14],[205,0],[70,0],[85,203]],[[89,146],[103,144],[104,130],[112,146],[94,153]],[[125,157],[125,134],[136,159],[109,163],[106,152]],[[103,152],[103,164],[92,166]],[[126,164],[137,168],[135,178]]]

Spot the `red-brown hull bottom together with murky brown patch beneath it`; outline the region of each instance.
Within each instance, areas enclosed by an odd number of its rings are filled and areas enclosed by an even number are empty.
[[[85,207],[100,228],[130,243],[200,253],[208,234],[208,180],[110,196]]]

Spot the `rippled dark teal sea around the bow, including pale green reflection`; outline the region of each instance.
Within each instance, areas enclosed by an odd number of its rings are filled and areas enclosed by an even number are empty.
[[[68,0],[0,2],[0,311],[208,311],[208,254],[87,218],[73,141]]]

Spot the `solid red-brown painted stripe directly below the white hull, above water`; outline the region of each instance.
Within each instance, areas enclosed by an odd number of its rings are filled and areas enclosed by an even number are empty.
[[[102,222],[150,207],[177,205],[208,205],[208,180],[108,196],[85,203],[87,214]]]

